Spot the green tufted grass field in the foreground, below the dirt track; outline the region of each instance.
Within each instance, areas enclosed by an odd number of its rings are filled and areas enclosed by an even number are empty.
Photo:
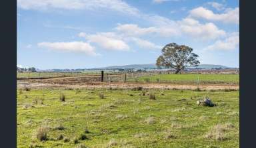
[[[238,91],[151,92],[156,100],[149,99],[149,92],[142,96],[132,90],[18,90],[17,147],[239,147]],[[59,101],[61,93],[65,102]],[[217,107],[197,106],[197,98],[205,95]],[[233,126],[225,129],[222,141],[205,137],[225,123]],[[60,125],[63,130],[56,128]],[[41,126],[51,127],[47,141],[35,138]],[[57,140],[61,134],[70,141]],[[79,139],[81,134],[89,139]]]

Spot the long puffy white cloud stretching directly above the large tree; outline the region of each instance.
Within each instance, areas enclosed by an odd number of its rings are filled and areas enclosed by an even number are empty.
[[[118,25],[115,29],[129,37],[139,37],[142,35],[180,37],[181,35],[187,35],[189,37],[210,40],[223,37],[225,35],[225,31],[219,29],[213,23],[201,24],[199,21],[192,18],[185,18],[182,21],[177,21],[172,25],[162,27],[143,28],[135,24],[124,24]]]

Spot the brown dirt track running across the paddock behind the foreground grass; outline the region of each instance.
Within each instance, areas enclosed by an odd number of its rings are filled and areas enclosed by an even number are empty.
[[[86,88],[86,89],[93,89],[93,88],[118,88],[118,89],[131,89],[135,87],[143,87],[143,88],[155,88],[155,89],[183,89],[183,90],[195,90],[197,89],[197,85],[193,84],[160,84],[160,83],[135,83],[135,82],[86,82],[86,83],[79,83],[79,84],[54,84],[54,83],[47,83],[47,82],[27,82],[26,86],[29,88]],[[18,88],[24,87],[24,83],[17,83]],[[202,84],[199,85],[200,90],[224,90],[224,89],[232,89],[232,90],[239,90],[239,86],[237,85],[227,85],[227,84]]]

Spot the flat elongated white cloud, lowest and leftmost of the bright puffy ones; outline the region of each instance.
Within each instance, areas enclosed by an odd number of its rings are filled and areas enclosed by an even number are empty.
[[[95,48],[88,42],[39,42],[40,47],[68,52],[84,52],[87,55],[96,56]]]

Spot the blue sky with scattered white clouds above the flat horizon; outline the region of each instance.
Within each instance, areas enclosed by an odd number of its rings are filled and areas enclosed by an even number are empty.
[[[239,67],[239,1],[17,0],[17,65],[149,64],[171,42]]]

